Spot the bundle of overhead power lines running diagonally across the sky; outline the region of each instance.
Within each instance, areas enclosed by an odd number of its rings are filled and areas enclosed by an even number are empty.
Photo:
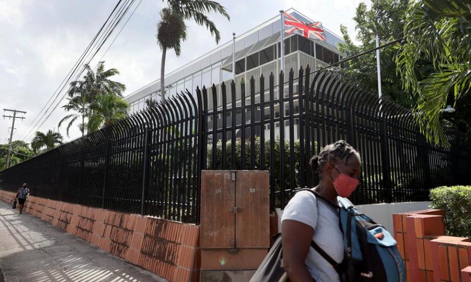
[[[129,2],[129,0],[127,0]],[[113,20],[117,17],[117,13],[115,13],[115,11],[118,9],[118,11],[122,10],[122,8],[124,7],[124,5],[121,5],[121,2],[122,0],[119,0],[118,3],[116,4],[116,6],[114,7],[114,9],[112,10],[111,14],[108,16],[108,18],[106,19],[105,23],[101,26],[100,30],[97,32],[97,34],[95,35],[95,37],[92,39],[92,41],[90,42],[90,44],[87,46],[87,48],[85,49],[85,51],[83,51],[83,53],[80,55],[80,57],[78,58],[77,62],[74,64],[74,66],[72,67],[71,71],[69,71],[69,73],[66,75],[66,77],[64,78],[64,80],[59,84],[58,88],[56,89],[56,91],[52,94],[51,98],[48,100],[48,102],[46,102],[46,104],[44,105],[43,109],[41,109],[41,111],[38,113],[38,115],[36,116],[36,118],[34,118],[34,120],[30,123],[30,125],[28,126],[28,128],[26,129],[26,131],[29,129],[29,131],[27,131],[26,133],[26,137],[29,136],[29,134],[31,133],[31,131],[33,131],[33,128],[37,128],[37,125],[38,123],[41,121],[42,118],[44,118],[44,116],[47,114],[47,112],[51,109],[52,105],[54,104],[55,100],[59,97],[59,94],[62,92],[62,90],[65,88],[65,86],[67,86],[68,82],[71,80],[71,78],[74,76],[74,74],[76,73],[77,69],[82,66],[82,63],[84,60],[86,60],[86,58],[89,56],[90,54],[90,51],[95,49],[95,47],[97,46],[97,39],[99,39],[99,41],[101,40],[101,38],[103,37],[103,34],[102,34],[102,31],[105,29],[105,30],[108,30],[109,26],[111,26],[111,21],[110,19],[113,18]],[[127,3],[128,3],[127,2]],[[120,7],[121,5],[121,7]],[[101,35],[101,36],[100,36]],[[102,43],[103,44],[103,41]],[[92,51],[93,52],[93,51]],[[91,61],[92,58],[90,58],[89,61]],[[80,73],[78,74],[78,76],[83,72],[83,66],[82,66],[82,71],[80,71]],[[77,76],[77,77],[78,77]],[[62,86],[62,87],[61,87]],[[59,90],[60,89],[60,90]],[[54,97],[55,95],[55,97]],[[54,97],[54,99],[52,99],[52,97]],[[52,100],[52,102],[51,102]],[[44,108],[46,108],[46,106],[51,102],[51,104],[49,105],[49,107],[46,109],[46,111],[44,111]],[[55,108],[54,108],[55,109]],[[44,111],[44,113],[42,113]],[[52,110],[53,111],[53,110]],[[38,117],[41,115],[42,113],[42,116],[39,118],[38,120]],[[37,121],[36,121],[37,120]],[[31,124],[33,124],[33,122],[36,121],[36,123],[30,128]],[[44,122],[43,122],[44,123]],[[25,131],[25,132],[26,132]],[[22,134],[22,137],[25,135],[25,133]]]

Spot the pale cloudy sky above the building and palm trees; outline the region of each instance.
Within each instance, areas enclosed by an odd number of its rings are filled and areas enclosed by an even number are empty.
[[[139,1],[139,0],[138,0]],[[136,2],[138,2],[136,1]],[[24,120],[17,119],[13,140],[25,140],[26,129],[54,94],[78,57],[105,23],[118,0],[0,0],[0,111],[25,111]],[[341,36],[340,24],[347,26],[352,38],[356,35],[355,15],[360,2],[369,0],[220,0],[231,16],[227,21],[209,14],[220,33],[219,45],[232,39],[232,33],[242,34],[279,15],[279,10],[293,7],[314,21]],[[116,68],[120,74],[114,80],[126,85],[125,95],[156,80],[160,75],[161,51],[156,40],[158,12],[166,6],[161,0],[142,0],[135,13],[111,44],[114,33],[104,49],[91,62],[96,66],[102,58],[105,68]],[[128,14],[129,15],[129,14]],[[126,18],[127,19],[127,18]],[[218,47],[205,27],[188,23],[188,39],[177,57],[167,51],[165,63],[169,73],[187,62]],[[59,95],[59,97],[61,97]],[[73,126],[67,137],[65,126],[57,128],[66,115],[60,106],[36,130],[59,130],[64,141],[78,138]],[[11,119],[0,119],[0,144],[10,137]],[[32,139],[34,131],[25,140]]]

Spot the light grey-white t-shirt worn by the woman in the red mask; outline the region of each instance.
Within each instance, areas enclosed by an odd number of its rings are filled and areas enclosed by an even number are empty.
[[[296,193],[283,211],[282,224],[284,220],[299,221],[314,228],[314,242],[336,262],[342,262],[343,235],[339,213],[323,201],[317,201],[314,193]],[[312,247],[306,257],[306,267],[316,282],[340,282],[334,267]]]

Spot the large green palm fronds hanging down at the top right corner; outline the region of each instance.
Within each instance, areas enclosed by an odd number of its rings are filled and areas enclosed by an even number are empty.
[[[404,88],[417,94],[415,116],[429,141],[447,142],[440,110],[470,91],[470,19],[467,0],[421,0],[406,18],[397,71]],[[420,69],[420,60],[429,61],[432,70]]]

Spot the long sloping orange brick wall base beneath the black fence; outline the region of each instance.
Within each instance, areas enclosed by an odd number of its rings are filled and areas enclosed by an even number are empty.
[[[0,200],[14,197],[0,190]],[[199,281],[199,226],[34,196],[23,211],[171,282]]]

